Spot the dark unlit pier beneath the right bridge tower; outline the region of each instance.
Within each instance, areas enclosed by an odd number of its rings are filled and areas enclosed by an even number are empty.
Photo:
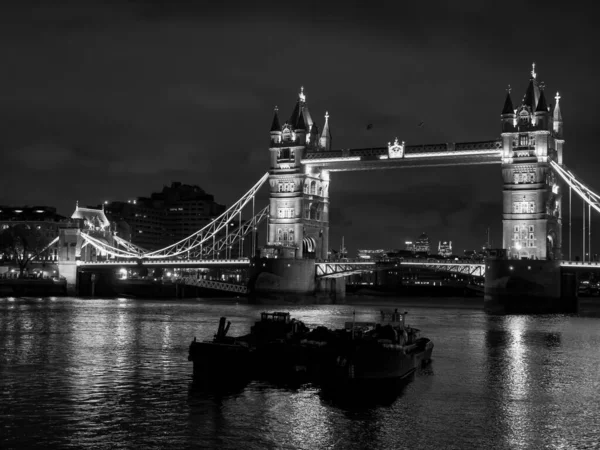
[[[484,306],[490,313],[577,312],[577,281],[559,261],[488,259]]]

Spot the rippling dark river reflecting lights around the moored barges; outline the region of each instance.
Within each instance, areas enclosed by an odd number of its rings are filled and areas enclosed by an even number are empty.
[[[411,306],[433,362],[384,395],[191,382],[222,315],[236,335],[264,310],[341,327],[398,305],[2,298],[0,448],[600,448],[599,318]]]

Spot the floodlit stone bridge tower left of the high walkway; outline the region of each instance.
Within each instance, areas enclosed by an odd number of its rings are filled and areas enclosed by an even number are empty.
[[[329,115],[325,114],[319,133],[301,88],[292,115],[283,125],[275,108],[270,134],[269,224],[261,256],[326,259],[329,172],[305,167],[302,159],[307,149],[330,149]]]

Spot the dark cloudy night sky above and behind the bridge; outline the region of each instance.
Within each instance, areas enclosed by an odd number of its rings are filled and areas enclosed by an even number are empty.
[[[181,181],[229,205],[268,170],[273,107],[287,119],[300,86],[335,148],[495,139],[534,61],[562,96],[565,163],[600,191],[600,32],[576,2],[162,3],[3,2],[0,204],[70,215]],[[335,173],[331,246],[425,231],[462,253],[488,226],[500,246],[501,186],[496,165]]]

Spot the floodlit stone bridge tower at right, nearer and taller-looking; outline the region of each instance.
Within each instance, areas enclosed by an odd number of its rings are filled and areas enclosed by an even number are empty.
[[[503,248],[511,259],[560,259],[561,192],[550,167],[562,164],[560,97],[548,105],[535,63],[516,109],[510,94],[509,86],[501,114]]]

